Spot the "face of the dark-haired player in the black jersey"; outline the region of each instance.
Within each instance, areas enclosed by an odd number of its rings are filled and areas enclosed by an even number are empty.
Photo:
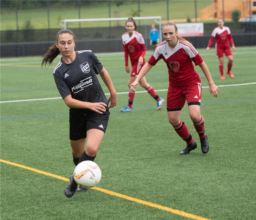
[[[74,53],[75,41],[73,35],[69,33],[60,34],[56,46],[63,57],[69,57]]]

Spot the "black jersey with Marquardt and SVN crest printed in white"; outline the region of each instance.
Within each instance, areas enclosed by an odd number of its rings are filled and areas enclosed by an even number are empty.
[[[76,58],[70,64],[61,59],[55,67],[53,76],[62,98],[67,95],[86,102],[104,102],[106,96],[96,74],[103,66],[91,50],[76,51]]]

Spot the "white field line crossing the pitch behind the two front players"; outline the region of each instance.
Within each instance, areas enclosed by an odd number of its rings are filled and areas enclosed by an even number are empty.
[[[219,85],[217,87],[230,87],[230,86],[247,86],[247,85],[252,85],[256,84],[254,83],[241,83],[241,84],[230,84],[230,85]],[[202,86],[202,89],[209,88],[209,86]],[[164,92],[167,91],[168,89],[158,89],[155,90],[155,92]],[[143,92],[148,92],[146,90],[143,91],[137,91],[136,93],[143,93]],[[117,95],[121,94],[128,94],[129,92],[117,92]],[[110,93],[105,93],[105,95],[110,95]],[[11,100],[11,101],[0,101],[0,103],[9,103],[9,102],[21,102],[21,101],[41,101],[41,100],[51,100],[51,99],[61,99],[62,97],[54,97],[54,98],[33,98],[33,99],[23,99],[23,100]]]

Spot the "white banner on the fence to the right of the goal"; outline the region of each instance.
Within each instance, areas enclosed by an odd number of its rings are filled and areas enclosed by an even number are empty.
[[[204,23],[180,23],[176,24],[178,34],[181,37],[194,37],[204,35]]]

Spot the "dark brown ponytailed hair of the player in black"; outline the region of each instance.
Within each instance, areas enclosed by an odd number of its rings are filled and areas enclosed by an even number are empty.
[[[60,34],[71,34],[75,40],[75,35],[72,31],[68,30],[68,29],[62,29],[58,32],[57,37],[56,37],[56,42],[58,42],[58,37]],[[56,46],[56,43],[54,43],[52,46],[50,46],[46,52],[46,54],[44,54],[44,56],[42,56],[42,64],[41,66],[43,67],[43,65],[45,64],[45,67],[47,64],[52,64],[53,60],[60,54],[59,49]]]

